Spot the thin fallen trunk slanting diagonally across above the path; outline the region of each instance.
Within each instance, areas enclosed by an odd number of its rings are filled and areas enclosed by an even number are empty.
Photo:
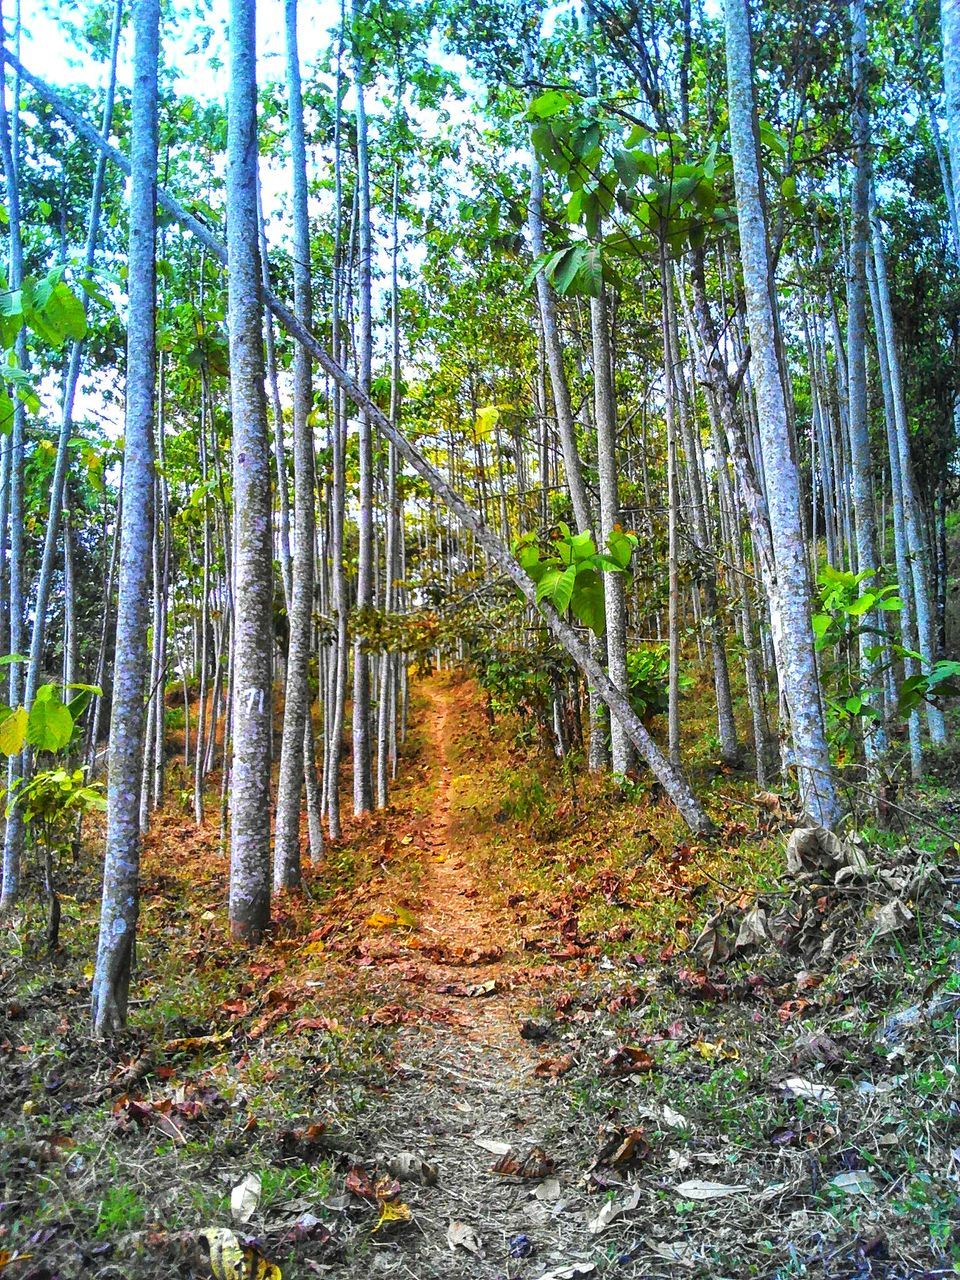
[[[90,142],[91,146],[109,156],[109,159],[113,160],[119,169],[129,174],[129,160],[115,147],[105,142],[97,131],[88,124],[83,116],[74,111],[63,97],[60,97],[56,90],[51,88],[46,81],[41,79],[38,76],[35,76],[33,72],[27,70],[19,59],[8,50],[3,50],[3,56],[10,67],[19,72],[28,84],[33,86],[37,93],[40,93],[40,96],[70,125],[70,128]],[[173,218],[175,218],[183,228],[196,236],[202,244],[206,244],[210,252],[214,253],[224,265],[227,264],[227,248],[214,236],[207,225],[188,212],[179,204],[179,201],[177,201],[166,191],[161,189],[157,192],[157,202]],[[613,716],[616,716],[623,726],[627,737],[644,760],[646,760],[658,782],[663,786],[667,796],[682,815],[687,826],[700,835],[708,835],[712,832],[713,823],[700,805],[700,801],[694,795],[694,791],[684,773],[671,764],[667,756],[660,751],[659,746],[657,746],[653,737],[648,732],[646,726],[630,705],[626,695],[614,686],[607,672],[588,650],[586,645],[581,641],[573,627],[564,622],[547,600],[538,602],[536,584],[532,579],[527,577],[518,562],[509,553],[509,549],[490,529],[488,529],[483,517],[475,512],[472,507],[467,506],[453,486],[444,480],[440,472],[433,467],[430,462],[428,462],[416,445],[413,445],[396,429],[387,415],[383,413],[376,404],[374,404],[369,396],[364,394],[349,374],[337,364],[337,361],[325,351],[316,338],[303,328],[293,312],[285,307],[274,293],[265,289],[264,302],[273,311],[287,333],[292,338],[296,338],[297,342],[301,342],[311,352],[320,367],[324,369],[325,372],[330,375],[333,381],[343,389],[357,408],[370,416],[371,421],[378,426],[383,435],[396,447],[398,454],[408,462],[424,480],[426,480],[433,492],[453,512],[463,527],[468,529],[474,534],[476,541],[484,549],[489,559],[494,564],[499,566],[499,568],[502,568],[503,572],[512,580],[524,598],[535,609],[541,612],[548,630],[552,632],[558,644],[566,649],[586,680],[596,689],[598,694],[607,703]]]

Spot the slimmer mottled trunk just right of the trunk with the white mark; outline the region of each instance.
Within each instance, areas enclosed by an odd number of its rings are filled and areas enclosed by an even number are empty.
[[[285,0],[287,92],[289,101],[291,168],[293,174],[293,310],[305,329],[312,324],[310,291],[310,215],[307,211],[307,152],[303,137],[303,95],[297,49],[297,0]],[[287,690],[283,705],[283,741],[276,791],[274,836],[274,888],[300,883],[300,808],[305,765],[305,733],[310,716],[310,640],[314,616],[314,429],[310,413],[314,388],[310,353],[297,343],[293,351],[293,575],[291,590]],[[312,735],[308,739],[312,746]]]

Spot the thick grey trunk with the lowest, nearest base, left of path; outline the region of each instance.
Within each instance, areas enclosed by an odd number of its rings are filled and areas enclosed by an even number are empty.
[[[92,991],[96,1036],[114,1032],[127,1021],[140,911],[140,782],[150,604],[148,576],[143,570],[154,526],[159,27],[159,0],[134,0],[127,415],[106,852]]]

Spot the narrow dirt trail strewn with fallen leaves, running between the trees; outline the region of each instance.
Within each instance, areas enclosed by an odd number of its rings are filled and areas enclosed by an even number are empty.
[[[399,1028],[393,1082],[360,1128],[365,1151],[383,1160],[412,1153],[434,1166],[436,1181],[403,1185],[415,1229],[375,1235],[370,1272],[500,1277],[511,1242],[530,1233],[538,1238],[538,1262],[529,1274],[539,1275],[550,1258],[568,1260],[571,1249],[577,1256],[577,1245],[588,1243],[579,1239],[580,1212],[576,1224],[570,1213],[584,1199],[575,1185],[576,1139],[562,1094],[534,1074],[536,1046],[520,1034],[536,1012],[539,983],[522,963],[517,924],[474,877],[461,847],[457,690],[430,682],[424,692],[434,790],[416,832],[416,972],[407,968],[404,978],[402,963],[394,970],[417,1016]],[[494,1165],[507,1144],[520,1161],[543,1158],[541,1175],[498,1172]],[[451,1222],[475,1228],[485,1256],[451,1249]]]

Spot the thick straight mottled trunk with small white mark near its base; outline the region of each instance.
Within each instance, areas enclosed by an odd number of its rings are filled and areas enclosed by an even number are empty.
[[[227,116],[228,324],[236,524],[230,932],[270,918],[273,548],[257,237],[256,0],[230,0]]]

